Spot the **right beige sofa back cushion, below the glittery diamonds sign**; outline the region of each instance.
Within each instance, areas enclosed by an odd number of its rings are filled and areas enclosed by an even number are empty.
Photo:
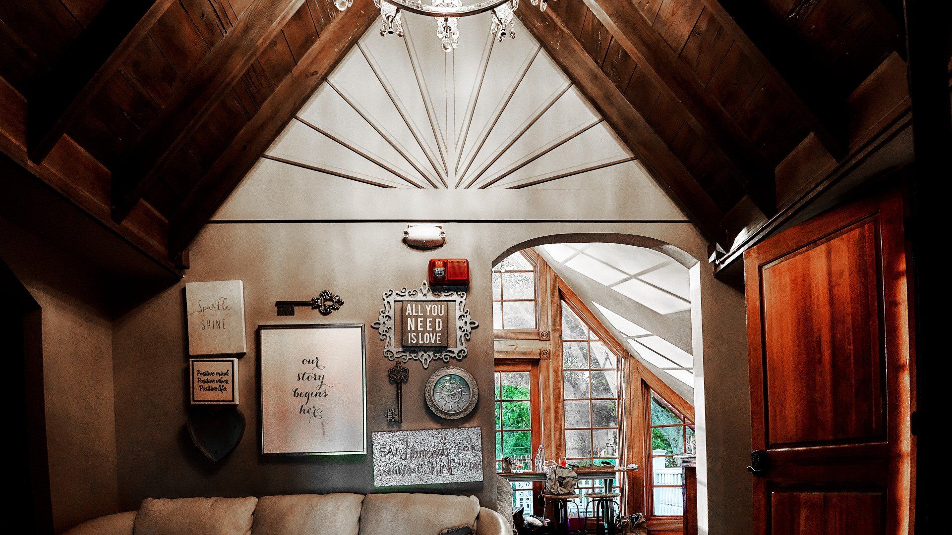
[[[367,494],[360,535],[436,535],[454,525],[475,525],[475,496],[443,494]]]

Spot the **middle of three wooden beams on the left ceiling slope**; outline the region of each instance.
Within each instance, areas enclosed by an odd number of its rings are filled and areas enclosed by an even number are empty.
[[[112,171],[112,219],[121,222],[173,154],[288,23],[305,0],[255,0],[208,52],[155,123]]]

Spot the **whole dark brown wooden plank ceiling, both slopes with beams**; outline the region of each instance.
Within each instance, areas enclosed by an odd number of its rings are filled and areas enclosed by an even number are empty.
[[[908,110],[899,0],[517,15],[723,258]],[[0,149],[173,262],[376,20],[371,0],[0,2]]]

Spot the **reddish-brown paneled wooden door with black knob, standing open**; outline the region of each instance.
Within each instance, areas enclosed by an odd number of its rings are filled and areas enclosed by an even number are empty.
[[[911,532],[909,291],[899,195],[744,255],[758,535]]]

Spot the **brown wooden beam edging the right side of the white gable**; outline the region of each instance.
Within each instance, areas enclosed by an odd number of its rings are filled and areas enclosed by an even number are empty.
[[[645,117],[592,61],[554,10],[527,9],[518,10],[516,14],[704,238],[711,243],[724,241],[720,232],[724,213]]]

